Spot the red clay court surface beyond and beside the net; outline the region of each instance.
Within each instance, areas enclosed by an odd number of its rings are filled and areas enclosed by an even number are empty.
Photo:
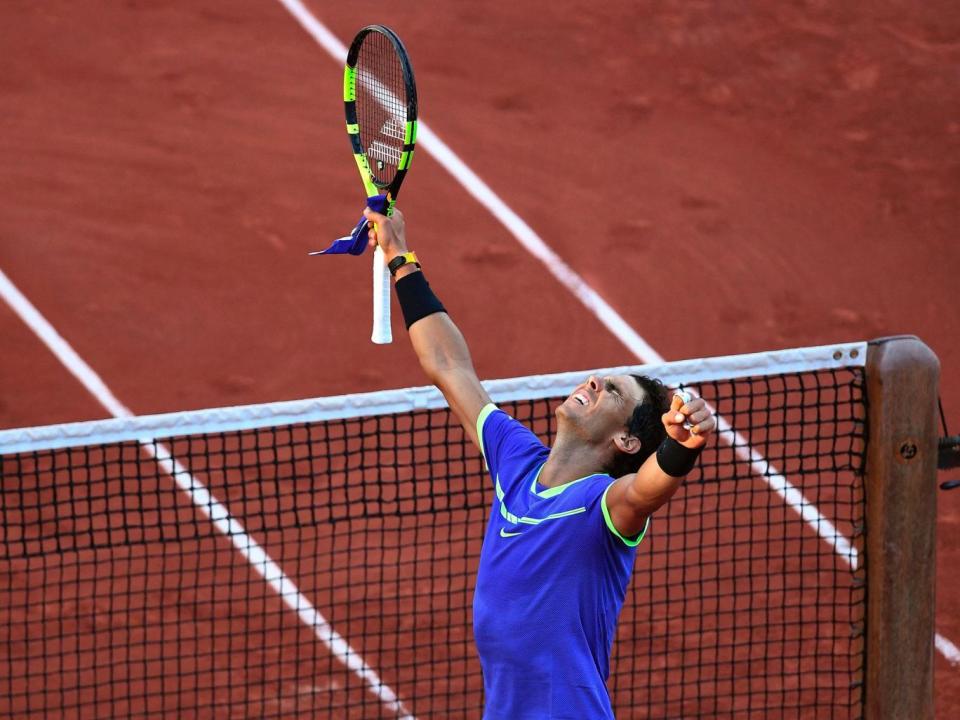
[[[311,3],[668,359],[913,333],[960,428],[955,3]],[[420,384],[372,346],[336,63],[272,0],[0,10],[0,268],[134,412]],[[422,150],[411,246],[482,377],[632,362]],[[560,179],[553,179],[564,173]],[[0,309],[0,427],[103,417]],[[944,474],[941,479],[952,477]],[[960,495],[938,630],[960,642]],[[937,716],[960,668],[936,656]]]

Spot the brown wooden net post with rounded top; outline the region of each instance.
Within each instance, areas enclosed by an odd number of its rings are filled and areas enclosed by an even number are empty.
[[[939,376],[916,337],[869,344],[866,720],[933,720]]]

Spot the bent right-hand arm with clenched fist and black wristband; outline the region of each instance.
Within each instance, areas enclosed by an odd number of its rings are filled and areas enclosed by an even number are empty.
[[[683,478],[693,469],[707,436],[717,426],[703,398],[684,404],[673,397],[661,418],[667,438],[640,469],[617,480],[607,492],[607,511],[621,535],[632,537],[643,530],[647,518],[673,497]],[[692,425],[691,428],[684,424]]]

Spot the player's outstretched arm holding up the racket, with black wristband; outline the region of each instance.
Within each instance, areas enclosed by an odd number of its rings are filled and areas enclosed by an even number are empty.
[[[403,213],[394,210],[391,217],[386,217],[367,208],[364,215],[376,228],[370,232],[370,241],[380,244],[388,264],[408,252]],[[411,277],[414,274],[419,277]],[[416,318],[408,331],[420,366],[443,393],[468,437],[480,447],[477,416],[490,402],[490,396],[480,384],[463,335],[426,286],[415,264],[402,265],[394,281],[404,317]]]

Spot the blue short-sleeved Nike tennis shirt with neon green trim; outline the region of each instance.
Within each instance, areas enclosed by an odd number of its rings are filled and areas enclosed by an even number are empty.
[[[473,604],[484,720],[612,719],[610,650],[646,528],[613,527],[609,475],[539,485],[549,448],[496,406],[477,433],[496,493]]]

